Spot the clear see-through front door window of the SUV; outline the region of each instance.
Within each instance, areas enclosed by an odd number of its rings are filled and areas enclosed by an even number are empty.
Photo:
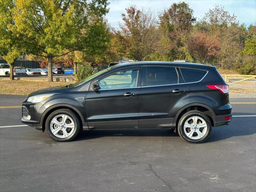
[[[112,74],[98,81],[100,90],[137,87],[139,70],[127,70]]]

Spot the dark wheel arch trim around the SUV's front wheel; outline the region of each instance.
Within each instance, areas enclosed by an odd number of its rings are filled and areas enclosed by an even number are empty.
[[[45,130],[45,122],[47,117],[54,112],[55,110],[58,109],[70,109],[71,111],[73,111],[74,113],[76,113],[80,119],[80,122],[82,124],[82,122],[84,122],[84,117],[82,116],[81,112],[75,108],[74,106],[68,105],[68,104],[55,104],[51,107],[49,107],[47,110],[45,110],[45,112],[43,113],[41,120],[40,120],[40,124],[42,124],[42,131],[44,132]]]

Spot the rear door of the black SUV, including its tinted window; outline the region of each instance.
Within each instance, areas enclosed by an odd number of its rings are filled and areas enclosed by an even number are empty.
[[[144,66],[140,91],[139,126],[171,128],[183,106],[189,104],[189,89],[178,68]]]

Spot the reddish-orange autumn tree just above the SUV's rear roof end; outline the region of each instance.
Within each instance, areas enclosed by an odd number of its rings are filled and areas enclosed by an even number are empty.
[[[210,62],[220,48],[219,39],[216,37],[207,37],[205,32],[192,34],[187,40],[188,51],[201,64]]]

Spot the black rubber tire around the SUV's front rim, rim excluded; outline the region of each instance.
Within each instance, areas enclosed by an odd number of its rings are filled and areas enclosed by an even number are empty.
[[[74,131],[73,133],[66,137],[66,138],[58,138],[56,137],[51,129],[50,129],[50,123],[52,121],[52,119],[57,116],[57,115],[60,115],[60,114],[65,114],[65,115],[68,115],[72,118],[72,120],[74,121]],[[77,114],[75,114],[74,112],[72,112],[71,110],[69,109],[58,109],[54,112],[52,112],[48,118],[46,119],[46,122],[45,122],[45,130],[48,134],[48,136],[50,138],[52,138],[53,140],[56,140],[56,141],[59,141],[59,142],[68,142],[68,141],[71,141],[73,140],[77,135],[78,133],[80,132],[81,130],[81,122],[80,122],[80,118],[77,116]]]

